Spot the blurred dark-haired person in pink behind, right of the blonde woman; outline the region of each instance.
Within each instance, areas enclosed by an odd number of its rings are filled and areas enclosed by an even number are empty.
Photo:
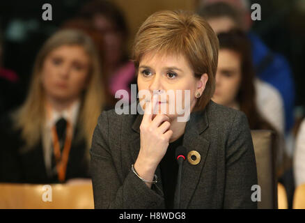
[[[120,9],[111,1],[93,0],[81,8],[80,16],[90,20],[103,36],[105,82],[111,98],[116,91],[125,90],[130,95],[130,84],[136,84],[134,64],[128,61],[127,24]],[[124,96],[125,98],[125,96]],[[130,97],[127,97],[130,100]],[[113,106],[116,100],[114,100]]]

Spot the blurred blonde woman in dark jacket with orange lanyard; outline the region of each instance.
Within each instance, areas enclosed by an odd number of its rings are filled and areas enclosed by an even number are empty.
[[[88,148],[104,101],[99,83],[100,62],[88,36],[64,30],[49,38],[24,104],[1,118],[0,181],[89,178]]]

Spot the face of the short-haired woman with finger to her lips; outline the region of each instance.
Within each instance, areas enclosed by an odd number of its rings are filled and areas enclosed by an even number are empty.
[[[207,81],[207,74],[202,75],[201,79],[194,76],[194,71],[189,66],[185,56],[181,54],[171,56],[152,52],[145,54],[139,62],[139,92],[146,90],[151,95],[150,98],[141,98],[139,94],[140,102],[151,101],[153,94],[158,90],[161,91],[160,94],[157,94],[159,111],[156,113],[161,113],[162,107],[166,107],[166,114],[169,118],[175,118],[181,115],[181,112],[187,109],[187,107],[190,107],[191,111],[194,105],[196,105],[197,98],[195,97],[195,93],[199,92],[202,95]],[[178,90],[181,93],[180,98],[178,97],[180,94]],[[186,90],[189,90],[189,95],[185,95]],[[175,98],[172,99],[170,95],[174,95]],[[177,97],[178,102],[175,104]],[[187,100],[189,100],[189,105],[185,105]],[[142,107],[145,110],[146,104],[143,104]],[[170,110],[170,107],[174,107],[174,111]]]

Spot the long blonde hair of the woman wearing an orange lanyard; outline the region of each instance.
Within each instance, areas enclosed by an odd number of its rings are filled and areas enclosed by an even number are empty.
[[[88,86],[82,95],[78,116],[80,124],[78,137],[84,137],[87,148],[91,146],[93,131],[104,103],[104,91],[100,81],[100,59],[91,38],[81,31],[66,29],[51,36],[38,52],[33,66],[29,94],[24,104],[13,114],[15,128],[22,131],[25,149],[38,144],[45,123],[45,91],[41,82],[43,63],[50,52],[63,45],[84,47],[91,59]]]

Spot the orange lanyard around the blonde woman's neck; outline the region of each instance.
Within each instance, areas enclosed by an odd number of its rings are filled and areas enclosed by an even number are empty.
[[[54,156],[56,161],[58,180],[63,182],[65,181],[65,173],[67,171],[67,164],[69,160],[69,153],[72,142],[72,126],[70,125],[70,122],[67,122],[65,144],[63,146],[62,154],[61,154],[61,149],[59,147],[58,135],[56,132],[55,125],[52,127],[52,134],[53,134]]]

